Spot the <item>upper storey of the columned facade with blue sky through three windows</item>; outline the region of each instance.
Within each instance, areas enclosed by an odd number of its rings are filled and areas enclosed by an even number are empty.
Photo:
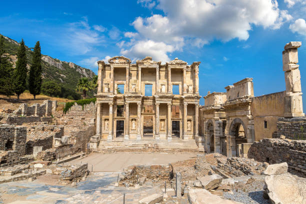
[[[114,56],[108,59],[108,63],[100,60],[97,96],[198,96],[199,63],[196,61],[188,65],[187,62],[175,58],[161,64],[160,61],[153,61],[150,56],[136,60],[134,64],[124,56]],[[119,86],[120,92],[117,91]]]

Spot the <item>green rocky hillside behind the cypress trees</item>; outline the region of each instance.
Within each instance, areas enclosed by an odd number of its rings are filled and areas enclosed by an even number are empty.
[[[19,43],[9,37],[4,36],[4,48],[10,61],[15,67],[17,60],[16,54]],[[28,68],[32,63],[32,54],[31,50],[27,48],[27,65]],[[43,47],[41,47],[43,52]],[[88,77],[92,78],[95,74],[90,69],[81,67],[72,62],[61,61],[59,59],[52,58],[48,55],[42,55],[42,78],[43,80],[53,80],[66,88],[75,90],[76,84],[79,78]]]

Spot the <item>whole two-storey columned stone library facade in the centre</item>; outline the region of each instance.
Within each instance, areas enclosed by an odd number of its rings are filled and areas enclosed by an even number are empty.
[[[198,136],[198,66],[114,56],[98,61],[96,134],[101,139]],[[98,139],[98,138],[97,138]]]

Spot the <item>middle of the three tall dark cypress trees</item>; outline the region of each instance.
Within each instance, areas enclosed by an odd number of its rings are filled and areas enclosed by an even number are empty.
[[[19,100],[19,95],[23,93],[26,86],[26,53],[25,53],[25,45],[23,39],[21,39],[20,45],[17,51],[17,61],[16,68],[13,74],[13,89],[17,94],[17,99]]]

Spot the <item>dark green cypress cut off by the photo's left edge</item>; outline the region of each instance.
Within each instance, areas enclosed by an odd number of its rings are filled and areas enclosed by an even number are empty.
[[[0,35],[0,94],[9,96],[14,94],[11,86],[13,69],[4,53],[4,37]]]

